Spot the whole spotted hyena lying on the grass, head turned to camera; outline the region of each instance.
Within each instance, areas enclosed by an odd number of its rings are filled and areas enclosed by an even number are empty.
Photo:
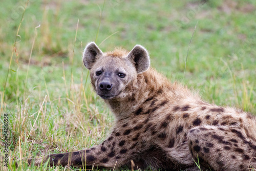
[[[79,152],[28,159],[31,164],[119,168],[246,170],[256,167],[256,118],[209,104],[150,68],[141,46],[103,53],[87,45],[83,63],[95,92],[116,118],[101,144]],[[50,158],[49,158],[50,157]],[[136,166],[137,168],[137,166]]]

